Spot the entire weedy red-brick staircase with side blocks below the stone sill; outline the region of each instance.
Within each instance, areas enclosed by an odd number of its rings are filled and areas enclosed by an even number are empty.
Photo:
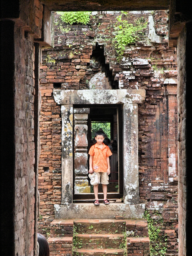
[[[51,222],[51,237],[48,239],[50,255],[72,256],[73,251],[74,256],[149,256],[150,241],[146,220],[121,218],[55,219]]]

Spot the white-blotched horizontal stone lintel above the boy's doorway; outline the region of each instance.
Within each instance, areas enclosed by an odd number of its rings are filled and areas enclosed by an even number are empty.
[[[143,89],[118,90],[59,90],[54,89],[57,104],[125,104],[142,103],[145,100]]]

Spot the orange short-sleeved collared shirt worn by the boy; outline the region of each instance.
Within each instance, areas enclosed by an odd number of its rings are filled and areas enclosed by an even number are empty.
[[[103,143],[103,147],[100,149],[96,143],[91,146],[89,154],[93,156],[92,168],[94,172],[107,172],[106,158],[112,155],[110,148]],[[95,168],[95,166],[98,166],[98,168]]]

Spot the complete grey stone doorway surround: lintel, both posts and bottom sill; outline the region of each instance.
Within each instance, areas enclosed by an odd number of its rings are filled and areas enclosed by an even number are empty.
[[[84,218],[88,212],[89,218],[100,218],[99,212],[95,211],[94,204],[73,202],[73,117],[74,114],[85,114],[85,112],[81,113],[80,111],[78,113],[77,110],[74,111],[78,105],[94,106],[101,104],[108,105],[109,107],[121,105],[123,162],[123,203],[118,205],[116,203],[114,203],[116,205],[110,204],[108,211],[102,217],[110,218],[110,216],[119,214],[124,215],[126,218],[142,216],[144,204],[139,204],[138,186],[138,103],[144,101],[145,90],[55,89],[54,99],[57,104],[61,105],[62,115],[62,204],[54,206],[56,218],[66,218],[66,216],[68,218],[75,218],[75,216]],[[86,118],[88,118],[88,112]],[[81,119],[80,116],[78,118],[79,120]],[[86,133],[87,125],[84,123],[78,129]]]

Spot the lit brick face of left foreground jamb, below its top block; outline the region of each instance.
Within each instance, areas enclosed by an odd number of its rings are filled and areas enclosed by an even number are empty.
[[[16,84],[20,83],[19,88],[16,89],[16,98],[18,98],[19,104],[15,104],[16,112],[16,124],[15,132],[20,134],[16,136],[16,156],[19,159],[16,161],[16,193],[22,195],[16,197],[15,200],[15,228],[17,230],[15,235],[16,248],[20,248],[19,255],[24,255],[24,241],[31,241],[27,244],[30,255],[33,252],[33,232],[28,230],[34,230],[34,184],[35,184],[35,172],[34,166],[34,46],[32,44],[30,34],[28,35],[30,40],[24,40],[24,33],[20,29],[16,29],[18,43],[22,42],[20,51],[16,55],[16,72],[24,73],[26,70],[26,76],[17,78]],[[23,40],[21,40],[23,39]],[[23,49],[25,49],[23,51]],[[26,54],[27,53],[27,54]],[[20,60],[19,60],[20,59]],[[26,64],[26,70],[25,70]],[[27,116],[26,116],[27,111]],[[21,133],[21,131],[23,131]],[[21,225],[22,223],[22,225]],[[26,229],[24,229],[24,226]]]

